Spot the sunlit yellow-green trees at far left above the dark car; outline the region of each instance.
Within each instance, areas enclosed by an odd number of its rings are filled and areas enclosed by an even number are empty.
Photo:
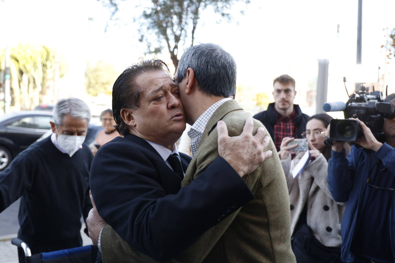
[[[66,71],[55,50],[43,45],[12,47],[10,58],[11,106],[21,110],[31,110],[42,103],[56,72],[61,78]],[[4,63],[1,69],[4,69]]]

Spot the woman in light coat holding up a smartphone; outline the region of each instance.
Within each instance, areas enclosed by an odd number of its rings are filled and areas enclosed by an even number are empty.
[[[310,147],[310,161],[295,178],[292,170],[305,151],[292,151],[297,144],[288,145],[294,138],[286,137],[280,145],[280,159],[290,194],[292,249],[297,262],[340,261],[340,221],[345,203],[336,203],[328,189],[327,160],[331,148],[324,144],[324,132],[332,117],[316,114],[306,124],[303,138]],[[296,156],[291,160],[291,154]]]

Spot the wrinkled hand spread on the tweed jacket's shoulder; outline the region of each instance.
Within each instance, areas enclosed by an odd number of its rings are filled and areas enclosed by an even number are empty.
[[[223,121],[217,123],[218,153],[241,177],[254,171],[272,155],[272,151],[264,151],[270,142],[265,130],[259,127],[252,136],[253,129],[252,119],[247,119],[243,132],[239,136],[229,137],[226,124]]]

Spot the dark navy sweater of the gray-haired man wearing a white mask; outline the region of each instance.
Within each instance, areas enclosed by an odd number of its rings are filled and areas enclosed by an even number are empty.
[[[0,173],[0,212],[22,196],[19,238],[51,243],[80,235],[80,218],[92,208],[88,194],[92,159],[86,144],[69,157],[48,137],[30,145]]]

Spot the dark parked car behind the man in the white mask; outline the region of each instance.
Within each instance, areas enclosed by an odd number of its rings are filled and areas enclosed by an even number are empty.
[[[15,156],[30,144],[52,134],[49,123],[53,121],[52,116],[52,112],[40,110],[15,112],[0,117],[0,171],[6,169]],[[93,142],[102,129],[92,118],[85,142]]]

